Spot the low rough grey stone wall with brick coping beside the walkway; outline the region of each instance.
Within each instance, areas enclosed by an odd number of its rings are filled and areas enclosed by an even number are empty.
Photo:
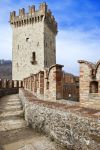
[[[67,150],[99,150],[98,111],[78,105],[39,101],[23,90],[20,90],[19,96],[25,119],[34,130],[44,132]]]

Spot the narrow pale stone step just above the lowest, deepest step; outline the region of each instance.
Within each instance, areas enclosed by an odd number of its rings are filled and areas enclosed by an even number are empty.
[[[8,112],[1,112],[0,117],[8,117],[8,116],[23,116],[24,111],[23,110],[16,110],[16,111],[8,111]]]

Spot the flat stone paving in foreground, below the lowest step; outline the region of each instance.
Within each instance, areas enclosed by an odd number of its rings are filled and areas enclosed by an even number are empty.
[[[3,150],[65,150],[47,136],[28,127],[0,132],[0,145]]]

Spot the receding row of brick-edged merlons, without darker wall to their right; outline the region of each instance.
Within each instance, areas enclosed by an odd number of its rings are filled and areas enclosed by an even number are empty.
[[[53,65],[49,69],[25,78],[24,89],[40,99],[56,101],[63,99],[62,65]]]

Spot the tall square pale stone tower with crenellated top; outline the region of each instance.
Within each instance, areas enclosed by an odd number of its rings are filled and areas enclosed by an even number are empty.
[[[19,10],[19,15],[10,13],[13,30],[12,78],[23,80],[44,68],[56,64],[57,23],[46,3],[39,10],[35,6]]]

